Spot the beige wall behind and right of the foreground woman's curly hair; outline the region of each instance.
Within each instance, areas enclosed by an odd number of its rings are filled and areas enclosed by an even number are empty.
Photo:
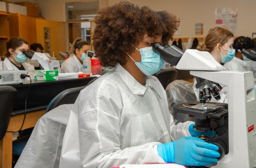
[[[120,0],[109,0],[113,5]],[[166,10],[181,20],[180,35],[176,37],[196,37],[195,23],[204,23],[204,35],[215,27],[215,8],[237,7],[237,34],[252,36],[256,32],[256,0],[129,0],[139,5],[149,6],[154,10]],[[200,36],[197,36],[200,37]]]

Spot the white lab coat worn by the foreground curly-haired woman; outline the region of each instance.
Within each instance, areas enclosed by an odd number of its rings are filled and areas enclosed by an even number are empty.
[[[157,145],[191,136],[193,122],[174,125],[166,92],[154,76],[146,86],[120,64],[84,88],[71,110],[60,167],[164,163]]]

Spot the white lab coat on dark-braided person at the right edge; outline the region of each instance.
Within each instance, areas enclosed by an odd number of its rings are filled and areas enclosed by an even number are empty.
[[[230,71],[251,71],[249,65],[237,57],[234,57],[231,61],[225,63],[223,66]]]

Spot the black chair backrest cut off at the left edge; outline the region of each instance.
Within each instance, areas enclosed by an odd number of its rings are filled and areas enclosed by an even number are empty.
[[[17,90],[11,86],[0,86],[0,141],[4,138],[14,108]]]

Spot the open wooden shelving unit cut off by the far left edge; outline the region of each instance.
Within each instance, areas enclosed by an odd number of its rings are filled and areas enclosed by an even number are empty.
[[[6,12],[0,12],[0,56],[6,54],[5,43],[10,38],[9,20]]]

